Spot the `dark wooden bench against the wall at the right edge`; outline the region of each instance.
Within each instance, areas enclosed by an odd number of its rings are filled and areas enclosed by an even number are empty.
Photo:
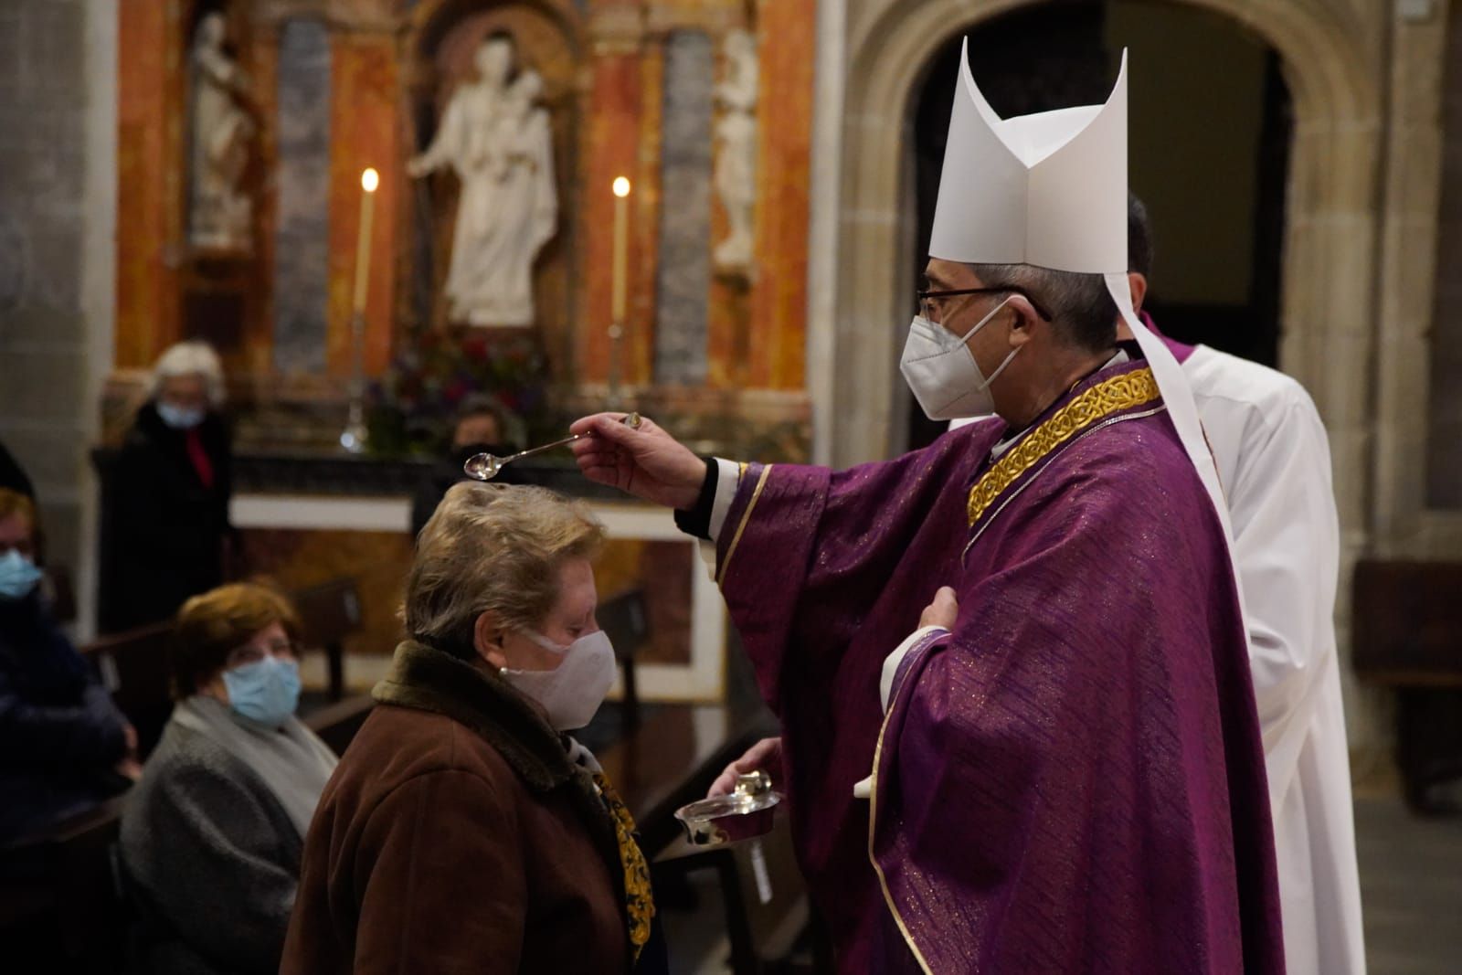
[[[1462,776],[1462,563],[1363,560],[1351,595],[1351,659],[1395,687],[1396,763],[1414,808]]]

